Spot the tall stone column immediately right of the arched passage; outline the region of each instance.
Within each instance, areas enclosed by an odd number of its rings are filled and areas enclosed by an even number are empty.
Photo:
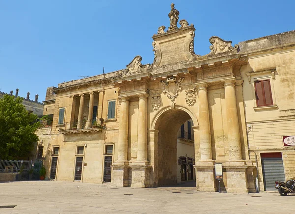
[[[207,95],[207,82],[196,84],[199,96],[199,126],[200,126],[200,153],[199,162],[213,162],[211,149],[211,131]]]

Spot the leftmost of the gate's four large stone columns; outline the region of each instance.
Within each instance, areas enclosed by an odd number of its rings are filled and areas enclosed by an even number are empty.
[[[128,119],[129,119],[129,98],[120,97],[120,123],[118,136],[118,160],[116,164],[126,165],[128,155]]]

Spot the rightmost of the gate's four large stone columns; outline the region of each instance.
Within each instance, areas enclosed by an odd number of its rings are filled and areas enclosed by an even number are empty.
[[[226,102],[226,116],[227,116],[227,130],[228,130],[228,143],[229,143],[229,160],[231,162],[241,162],[241,143],[239,124],[236,109],[236,94],[235,82],[236,79],[227,78],[222,79],[224,84],[225,102]]]

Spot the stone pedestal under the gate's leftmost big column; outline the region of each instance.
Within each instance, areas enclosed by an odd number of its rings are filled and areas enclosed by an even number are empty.
[[[112,180],[111,185],[115,187],[129,187],[130,179],[129,179],[129,166],[128,165],[111,165],[112,167]]]

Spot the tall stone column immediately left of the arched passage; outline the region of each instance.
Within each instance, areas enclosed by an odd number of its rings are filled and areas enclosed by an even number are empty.
[[[139,97],[138,107],[138,131],[137,131],[137,162],[148,164],[148,112],[147,93],[137,94]]]

